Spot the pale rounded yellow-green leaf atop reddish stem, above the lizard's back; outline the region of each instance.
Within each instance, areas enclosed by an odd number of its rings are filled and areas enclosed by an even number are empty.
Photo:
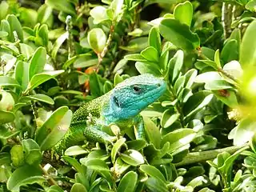
[[[96,54],[102,52],[106,46],[106,34],[101,28],[94,28],[88,33],[88,43]]]

